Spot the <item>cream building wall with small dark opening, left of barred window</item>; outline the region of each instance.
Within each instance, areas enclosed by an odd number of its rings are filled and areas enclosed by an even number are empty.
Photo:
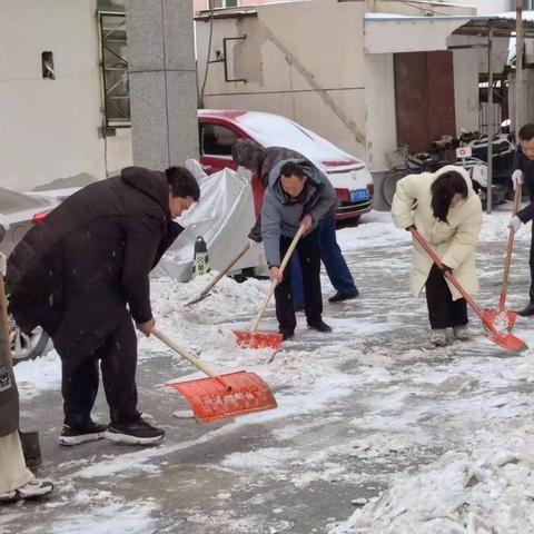
[[[95,11],[93,0],[0,2],[2,186],[22,190],[80,172],[106,176]],[[42,51],[53,52],[56,80],[42,79]],[[128,160],[125,138],[108,146],[113,165]]]

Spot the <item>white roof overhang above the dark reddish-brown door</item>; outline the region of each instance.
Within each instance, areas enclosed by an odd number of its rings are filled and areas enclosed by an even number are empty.
[[[491,16],[409,17],[393,13],[366,13],[364,49],[366,53],[447,50],[447,38],[513,37],[515,13]],[[525,38],[534,38],[534,11],[523,13]]]

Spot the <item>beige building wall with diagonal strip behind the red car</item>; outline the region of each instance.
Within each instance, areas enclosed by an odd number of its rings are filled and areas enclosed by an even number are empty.
[[[364,10],[363,2],[304,1],[216,20],[211,58],[222,51],[222,38],[247,34],[227,58],[229,76],[247,83],[225,82],[222,63],[212,63],[205,106],[285,115],[365,159]],[[209,23],[196,29],[201,82]]]

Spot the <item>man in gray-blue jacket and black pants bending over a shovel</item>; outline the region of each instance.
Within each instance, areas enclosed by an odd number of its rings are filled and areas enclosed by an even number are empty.
[[[304,310],[309,328],[332,332],[324,323],[320,293],[320,244],[318,224],[334,212],[337,197],[326,176],[306,159],[280,161],[269,175],[261,209],[261,237],[275,290],[276,317],[284,339],[295,333],[290,264],[284,275],[279,266],[299,226],[304,237],[297,245],[304,285]]]

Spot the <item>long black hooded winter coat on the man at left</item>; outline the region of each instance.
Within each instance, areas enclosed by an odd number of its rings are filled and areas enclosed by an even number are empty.
[[[152,317],[149,273],[182,228],[162,172],[128,167],[81,189],[34,226],[8,260],[10,312],[40,325],[62,357],[98,348],[127,313]]]

